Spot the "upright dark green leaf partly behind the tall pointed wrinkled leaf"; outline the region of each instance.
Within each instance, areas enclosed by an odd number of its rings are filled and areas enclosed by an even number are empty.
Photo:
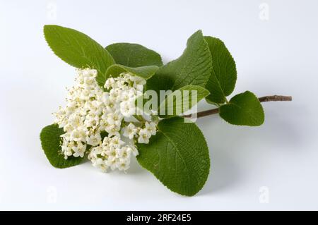
[[[237,72],[235,61],[225,44],[216,37],[204,37],[211,51],[213,70],[206,89],[211,95],[206,97],[208,102],[223,103],[225,97],[230,95],[235,87]]]

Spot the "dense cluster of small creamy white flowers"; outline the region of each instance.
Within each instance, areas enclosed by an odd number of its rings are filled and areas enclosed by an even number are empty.
[[[66,107],[54,113],[55,123],[64,129],[61,151],[65,159],[88,154],[93,166],[102,171],[125,171],[131,154],[138,154],[136,142],[148,143],[156,133],[155,121],[134,117],[135,101],[143,95],[146,80],[122,73],[108,78],[104,91],[96,76],[93,69],[79,69],[76,85],[68,90]]]

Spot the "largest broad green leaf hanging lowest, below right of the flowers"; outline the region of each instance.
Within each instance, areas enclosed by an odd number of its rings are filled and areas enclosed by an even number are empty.
[[[158,133],[138,149],[139,164],[170,190],[192,196],[206,183],[208,146],[194,123],[184,123],[181,117],[164,119],[158,123]]]

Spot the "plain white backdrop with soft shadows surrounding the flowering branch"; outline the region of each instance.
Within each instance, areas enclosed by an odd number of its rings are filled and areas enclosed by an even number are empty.
[[[0,209],[318,209],[318,2],[262,2],[1,0]],[[259,16],[266,6],[268,20]],[[136,162],[127,174],[102,174],[89,163],[54,169],[39,133],[64,104],[74,69],[47,47],[45,24],[104,46],[140,43],[165,62],[201,29],[235,58],[235,93],[293,95],[293,102],[264,103],[257,128],[199,119],[211,173],[194,197],[170,192]],[[269,202],[260,202],[266,193]]]

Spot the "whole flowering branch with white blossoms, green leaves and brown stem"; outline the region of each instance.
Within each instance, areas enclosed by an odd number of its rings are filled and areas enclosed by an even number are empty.
[[[40,133],[42,149],[57,168],[76,166],[88,158],[102,171],[126,171],[131,157],[138,155],[139,164],[163,185],[192,196],[207,181],[209,150],[196,124],[184,123],[177,115],[201,99],[225,99],[225,104],[216,104],[217,109],[183,117],[219,113],[233,125],[261,126],[265,115],[260,102],[292,100],[280,95],[257,98],[246,90],[228,101],[225,95],[232,93],[237,80],[236,63],[220,39],[204,36],[201,30],[189,37],[178,59],[165,65],[160,54],[140,44],[104,48],[88,35],[58,25],[45,25],[44,35],[59,58],[78,68],[66,105]],[[165,91],[159,97],[167,100],[159,106],[158,90]],[[193,96],[196,102],[190,104]],[[159,108],[165,109],[163,114]]]

